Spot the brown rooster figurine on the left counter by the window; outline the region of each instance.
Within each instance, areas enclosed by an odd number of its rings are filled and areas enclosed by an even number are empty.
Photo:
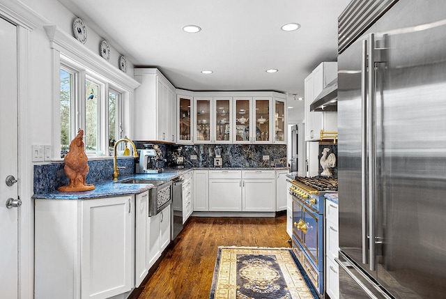
[[[88,158],[84,150],[84,131],[79,129],[75,139],[72,139],[70,151],[65,156],[63,170],[70,180],[68,185],[59,187],[60,192],[78,192],[94,190],[95,186],[86,183],[86,175],[89,173]]]

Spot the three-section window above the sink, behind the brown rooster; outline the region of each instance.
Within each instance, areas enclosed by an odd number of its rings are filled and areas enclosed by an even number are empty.
[[[62,65],[59,72],[61,158],[68,153],[79,128],[84,130],[87,155],[112,154],[114,143],[122,137],[123,93],[89,70]],[[77,82],[84,82],[84,89]]]

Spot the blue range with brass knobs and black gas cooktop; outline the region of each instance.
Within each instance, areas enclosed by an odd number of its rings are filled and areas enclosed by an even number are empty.
[[[293,250],[320,296],[324,293],[324,197],[337,191],[337,178],[295,177],[293,198]]]

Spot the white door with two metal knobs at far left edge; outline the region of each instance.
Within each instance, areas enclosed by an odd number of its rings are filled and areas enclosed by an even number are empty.
[[[17,27],[0,17],[0,293],[1,298],[17,298],[18,289],[18,208],[6,207],[17,200]]]

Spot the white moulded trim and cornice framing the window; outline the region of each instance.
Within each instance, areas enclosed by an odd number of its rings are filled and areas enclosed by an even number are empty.
[[[93,53],[87,49],[78,40],[69,36],[68,33],[62,31],[56,25],[43,26],[49,38],[50,47],[53,49],[52,68],[53,68],[53,125],[52,125],[52,144],[54,146],[53,160],[61,160],[60,158],[60,116],[59,116],[59,97],[60,97],[60,76],[59,70],[61,64],[79,71],[79,82],[85,82],[86,71],[94,73],[95,77],[100,77],[101,81],[109,82],[114,90],[121,93],[122,109],[121,121],[123,134],[131,137],[130,132],[130,100],[140,83],[132,77],[126,75],[117,67],[112,66],[109,62],[102,59],[99,54]],[[90,75],[90,74],[89,74]],[[77,95],[85,94],[85,84],[77,84],[79,90]],[[108,91],[107,91],[108,98]],[[82,102],[82,101],[80,101]],[[76,107],[76,123],[85,123],[85,116],[82,107]],[[84,119],[82,119],[84,118]],[[75,129],[77,130],[77,128]],[[101,144],[102,146],[102,144]]]

